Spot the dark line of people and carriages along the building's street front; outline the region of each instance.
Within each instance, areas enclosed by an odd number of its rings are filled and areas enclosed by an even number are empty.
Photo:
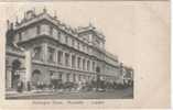
[[[66,81],[63,82],[61,79],[53,79],[51,80],[50,85],[44,82],[37,82],[34,86],[30,87],[28,90],[68,90],[68,91],[107,91],[107,90],[116,90],[116,89],[123,89],[128,87],[132,87],[133,81],[128,80],[123,81],[122,84],[117,84],[116,81],[106,81],[106,80],[90,80],[90,81]],[[19,82],[18,91],[22,92],[23,90],[23,82]]]

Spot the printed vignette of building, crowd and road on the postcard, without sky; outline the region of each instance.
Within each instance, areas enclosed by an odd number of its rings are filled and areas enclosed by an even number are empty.
[[[104,33],[62,22],[58,8],[36,9],[7,20],[7,99],[133,98],[134,70],[106,50]]]

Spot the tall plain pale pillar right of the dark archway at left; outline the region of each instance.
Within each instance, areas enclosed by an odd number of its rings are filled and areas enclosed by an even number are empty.
[[[26,90],[30,90],[31,86],[31,74],[32,74],[32,57],[31,51],[25,52],[25,87]]]

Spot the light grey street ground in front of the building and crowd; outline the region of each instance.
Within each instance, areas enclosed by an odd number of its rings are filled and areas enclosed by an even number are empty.
[[[132,99],[133,88],[116,89],[109,91],[7,91],[6,99]]]

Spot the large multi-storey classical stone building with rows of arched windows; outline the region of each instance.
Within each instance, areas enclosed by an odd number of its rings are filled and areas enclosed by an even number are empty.
[[[19,80],[34,86],[53,78],[78,82],[97,76],[121,82],[121,63],[105,50],[105,42],[91,24],[72,29],[46,9],[39,14],[29,10],[20,22],[8,21],[6,87],[15,88]]]

